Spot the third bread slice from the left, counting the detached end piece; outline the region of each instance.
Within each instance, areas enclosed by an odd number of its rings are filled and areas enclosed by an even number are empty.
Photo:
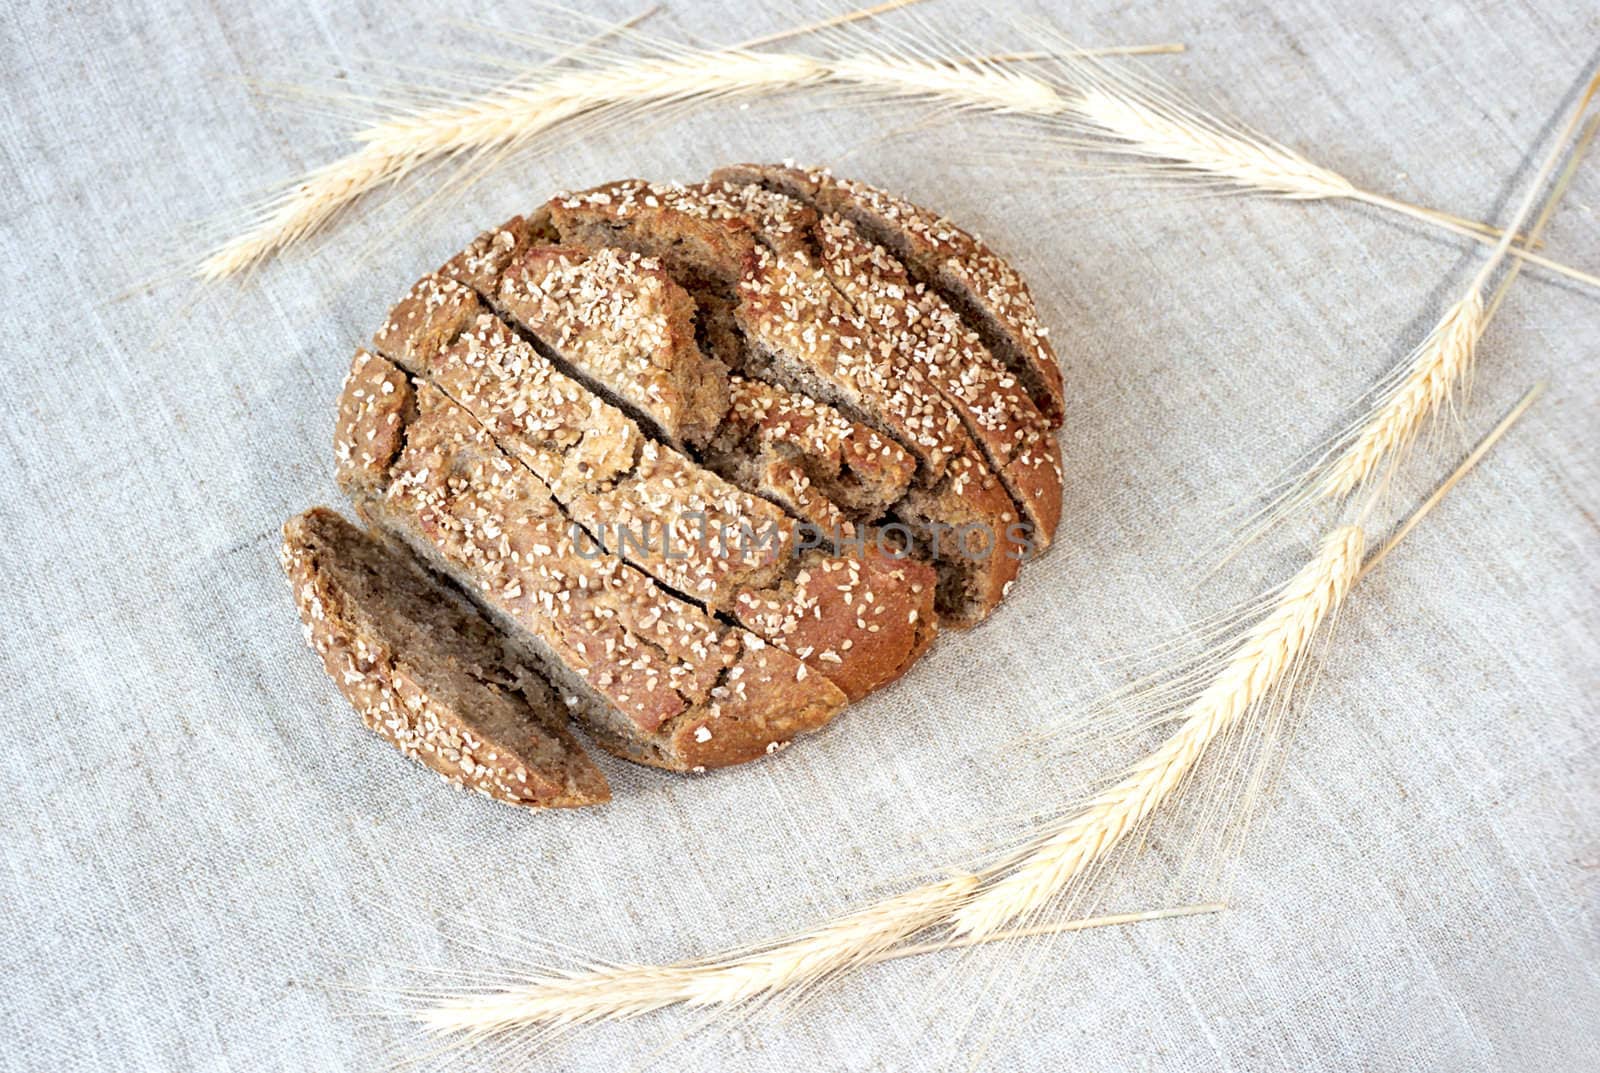
[[[802,555],[816,542],[797,547],[779,507],[650,440],[459,283],[424,277],[374,345],[466,408],[600,545],[806,660],[851,699],[898,678],[933,641],[928,566],[866,542]],[[600,366],[626,361],[598,357]]]

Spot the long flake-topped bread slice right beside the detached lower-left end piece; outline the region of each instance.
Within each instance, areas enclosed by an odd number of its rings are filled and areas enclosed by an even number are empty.
[[[339,405],[358,513],[458,584],[605,748],[677,771],[776,752],[845,694],[582,540],[549,488],[430,384],[358,352]]]

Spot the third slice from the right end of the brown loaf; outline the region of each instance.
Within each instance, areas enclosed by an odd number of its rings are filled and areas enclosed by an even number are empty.
[[[610,241],[659,257],[702,315],[733,302],[742,374],[822,401],[914,454],[920,494],[890,515],[925,529],[925,552],[941,550],[939,529],[955,526],[987,526],[994,545],[986,558],[938,561],[941,616],[971,625],[994,609],[1022,552],[1016,507],[923,371],[875,337],[818,269],[811,209],[755,185],[637,181],[562,195],[549,209],[563,241]],[[957,456],[965,457],[962,478],[946,481]]]

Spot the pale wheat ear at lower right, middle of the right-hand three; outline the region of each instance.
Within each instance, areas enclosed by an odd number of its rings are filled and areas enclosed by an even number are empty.
[[[989,935],[1043,908],[1118,846],[1194,771],[1206,748],[1274,694],[1339,606],[1362,566],[1365,536],[1341,526],[1283,588],[1277,606],[1184,708],[1184,723],[1120,782],[1069,814],[1005,875],[950,915],[957,935]]]

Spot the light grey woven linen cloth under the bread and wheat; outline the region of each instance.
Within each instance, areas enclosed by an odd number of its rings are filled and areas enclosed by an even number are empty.
[[[674,959],[979,856],[1104,771],[1029,737],[1123,681],[1104,660],[1304,561],[1312,521],[1197,584],[1222,512],[1339,427],[1482,257],[1374,211],[1045,166],[1066,150],[986,160],[963,149],[984,118],[907,141],[888,136],[915,110],[786,96],[555,144],[438,211],[371,198],[323,241],[197,291],[181,275],[197,224],[342,149],[320,99],[256,83],[426,80],[517,45],[451,24],[454,8],[376,0],[8,6],[5,1070],[370,1070],[418,1051],[349,1017],[371,1004],[344,988],[413,979],[390,966],[506,967],[451,935]],[[470,13],[533,37],[550,19]],[[674,3],[643,29],[738,42],[816,14]],[[1142,64],[1358,182],[1490,221],[1600,30],[1592,5],[1525,0],[955,11],[978,48],[1018,43],[1034,16],[1086,45],[1186,42]],[[578,814],[451,792],[360,728],[274,558],[285,518],[341,502],[349,353],[416,275],[555,189],[746,158],[834,165],[1016,261],[1072,398],[1059,547],[992,622],[776,760],[701,779],[606,763],[616,801]],[[1589,163],[1550,256],[1600,265],[1597,205]],[[1224,913],[880,966],[662,1065],[1594,1068],[1597,357],[1600,297],[1528,272],[1459,424],[1413,456],[1379,521],[1530,384],[1549,392],[1346,606],[1242,856],[1186,894],[1226,892]],[[1163,830],[1098,905],[1171,903],[1160,862],[1182,835]],[[458,1068],[634,1068],[688,1023]]]

